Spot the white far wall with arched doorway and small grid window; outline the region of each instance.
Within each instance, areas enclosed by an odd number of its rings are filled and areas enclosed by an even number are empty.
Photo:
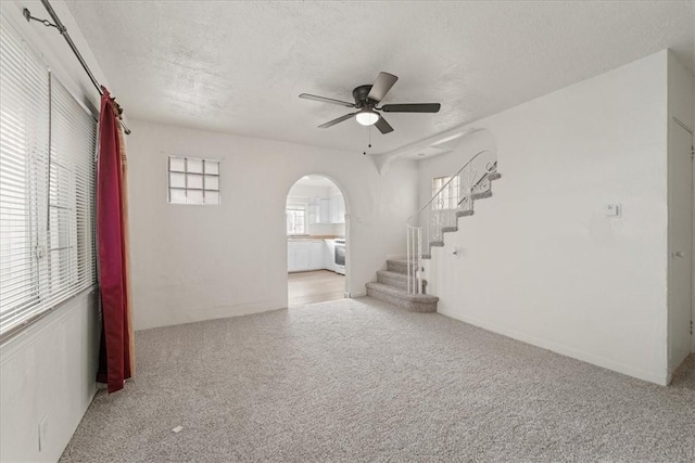
[[[387,255],[403,254],[416,205],[415,163],[378,175],[359,153],[130,120],[129,188],[138,330],[287,307],[285,205],[296,180],[343,188],[350,218],[349,291]],[[167,204],[168,155],[222,159],[219,206]]]

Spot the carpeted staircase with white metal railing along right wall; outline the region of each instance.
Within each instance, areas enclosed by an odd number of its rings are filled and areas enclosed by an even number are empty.
[[[387,270],[377,272],[377,282],[367,283],[367,295],[417,312],[435,312],[439,298],[425,293],[424,259],[432,247],[444,246],[444,234],[458,231],[462,217],[473,215],[473,203],[492,196],[497,156],[484,150],[451,176],[432,198],[408,219],[407,258],[387,260]]]

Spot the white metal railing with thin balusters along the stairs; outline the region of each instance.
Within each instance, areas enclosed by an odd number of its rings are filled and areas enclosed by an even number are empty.
[[[473,200],[489,194],[490,175],[496,171],[494,151],[476,153],[430,201],[408,218],[406,253],[409,294],[422,294],[422,259],[430,258],[432,246],[444,245],[445,232],[457,230],[458,217],[472,214]],[[424,252],[425,248],[427,252]]]

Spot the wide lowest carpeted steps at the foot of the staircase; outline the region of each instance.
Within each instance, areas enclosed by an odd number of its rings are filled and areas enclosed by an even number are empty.
[[[387,270],[379,270],[377,281],[367,283],[367,296],[414,312],[435,312],[439,300],[429,294],[408,293],[408,262],[405,259],[387,260]]]

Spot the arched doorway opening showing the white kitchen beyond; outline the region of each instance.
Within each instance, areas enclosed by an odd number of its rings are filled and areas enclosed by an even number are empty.
[[[287,195],[288,307],[345,297],[345,197],[331,179],[304,176]]]

